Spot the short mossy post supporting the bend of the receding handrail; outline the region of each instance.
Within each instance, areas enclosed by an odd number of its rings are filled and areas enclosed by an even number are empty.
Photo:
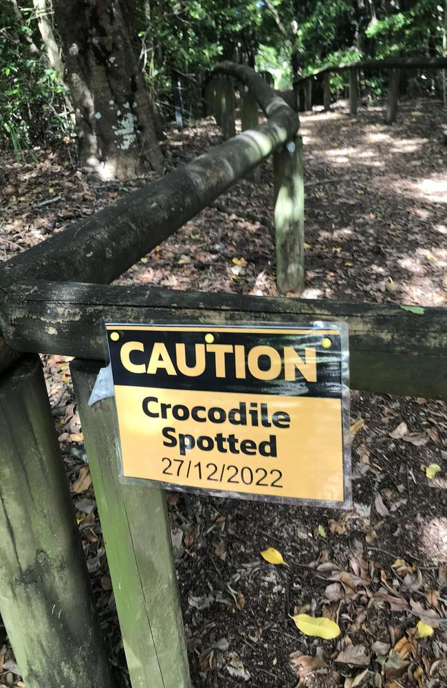
[[[280,292],[304,288],[303,139],[294,139],[273,155],[276,285]]]

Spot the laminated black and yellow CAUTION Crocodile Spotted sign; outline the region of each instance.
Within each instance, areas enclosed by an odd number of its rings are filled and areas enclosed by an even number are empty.
[[[122,477],[349,502],[345,325],[106,325]]]

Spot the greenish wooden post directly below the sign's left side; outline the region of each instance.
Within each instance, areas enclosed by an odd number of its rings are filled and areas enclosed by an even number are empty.
[[[120,482],[113,399],[87,403],[99,367],[71,366],[132,688],[190,688],[166,494]]]

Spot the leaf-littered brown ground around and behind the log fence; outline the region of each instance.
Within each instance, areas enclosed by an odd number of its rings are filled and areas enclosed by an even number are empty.
[[[402,107],[394,127],[386,127],[382,109],[372,107],[362,109],[358,120],[342,109],[301,118],[305,297],[446,303],[447,148],[440,118],[439,104],[414,102]],[[218,141],[209,121],[171,132],[173,165]],[[36,151],[39,162],[27,166],[3,156],[3,259],[138,185],[98,184],[73,169],[67,153]],[[120,282],[275,294],[271,217],[267,162],[260,184],[240,182],[217,208],[203,211]],[[85,454],[67,359],[47,358],[46,372],[74,482]],[[355,685],[447,685],[446,407],[353,392],[351,418],[360,422],[353,438],[354,507],[347,513],[237,502],[224,517],[219,499],[193,497],[187,510],[178,495],[168,497],[174,539],[181,539],[177,571],[196,688],[292,688],[300,678],[305,686],[349,688],[347,677],[360,674]],[[442,471],[429,479],[426,466],[432,463]],[[125,660],[91,488],[74,495],[74,502],[103,629],[124,686]],[[261,559],[259,552],[269,546],[282,552],[290,568]],[[341,639],[323,642],[299,633],[288,618],[296,610],[336,619]],[[419,619],[436,626],[433,636],[415,636]],[[318,674],[305,676],[317,668]],[[8,680],[0,673],[0,685],[17,685],[18,677],[9,673]]]

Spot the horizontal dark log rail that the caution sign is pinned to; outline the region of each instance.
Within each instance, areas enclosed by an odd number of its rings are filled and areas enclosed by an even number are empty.
[[[104,358],[101,322],[232,321],[349,325],[350,380],[356,389],[446,398],[447,310],[243,294],[203,294],[146,286],[83,283],[13,285],[0,306],[17,349]]]

